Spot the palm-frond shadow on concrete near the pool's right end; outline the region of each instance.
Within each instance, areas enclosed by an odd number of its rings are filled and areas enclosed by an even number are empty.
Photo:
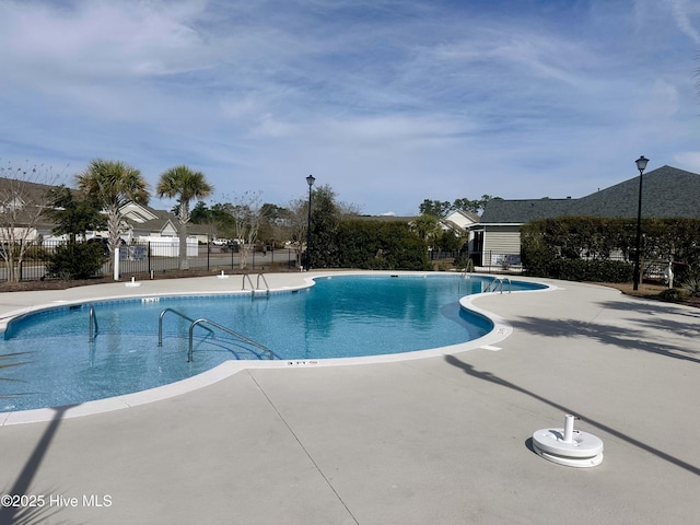
[[[627,308],[629,311],[629,308]],[[674,330],[685,337],[697,337],[697,325],[674,323],[668,319],[626,319],[626,323],[640,325],[640,330],[654,327],[661,330]],[[520,317],[509,323],[515,329],[544,337],[585,337],[602,345],[610,345],[629,350],[641,350],[673,359],[680,359],[700,363],[700,352],[689,348],[681,348],[664,340],[642,340],[640,331],[620,326],[590,323],[575,319],[542,319],[541,317]],[[696,357],[697,355],[697,357]]]

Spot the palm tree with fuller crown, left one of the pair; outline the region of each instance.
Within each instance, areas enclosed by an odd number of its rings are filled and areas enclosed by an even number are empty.
[[[121,212],[119,209],[132,201],[148,205],[150,194],[148,183],[141,172],[120,161],[95,159],[83,173],[75,176],[78,188],[94,198],[107,212],[109,232],[109,254],[114,254],[120,243]],[[109,258],[109,265],[113,257]]]

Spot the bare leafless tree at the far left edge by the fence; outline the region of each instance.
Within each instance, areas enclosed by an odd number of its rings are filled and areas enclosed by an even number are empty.
[[[58,176],[39,166],[0,167],[0,255],[8,281],[21,279],[22,261],[36,240],[36,226],[50,208],[49,189]]]

